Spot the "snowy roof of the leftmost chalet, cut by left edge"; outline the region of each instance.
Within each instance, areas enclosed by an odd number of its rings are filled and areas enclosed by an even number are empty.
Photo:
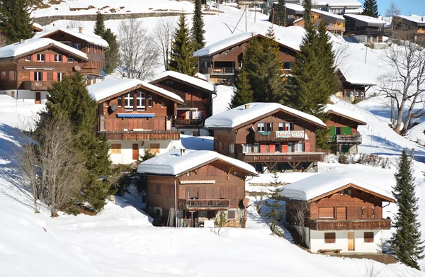
[[[23,43],[13,43],[11,45],[1,47],[0,59],[18,57],[48,45],[52,45],[61,50],[71,52],[81,60],[88,60],[88,57],[84,52],[81,52],[80,50],[77,50],[73,47],[69,47],[68,45],[64,45],[63,43],[59,43],[56,40],[51,40],[50,38],[32,38],[30,40],[24,40]]]

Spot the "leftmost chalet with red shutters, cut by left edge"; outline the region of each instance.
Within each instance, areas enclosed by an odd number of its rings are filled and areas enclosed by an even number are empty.
[[[0,92],[19,101],[45,103],[53,82],[88,61],[85,53],[49,38],[1,47]]]

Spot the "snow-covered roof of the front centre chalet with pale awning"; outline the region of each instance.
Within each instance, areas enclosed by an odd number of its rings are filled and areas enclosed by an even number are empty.
[[[137,172],[142,174],[179,176],[190,169],[196,169],[202,164],[220,159],[228,164],[243,169],[253,176],[258,176],[254,166],[233,159],[215,151],[185,149],[181,154],[181,149],[174,149],[152,159],[142,162],[137,167]]]

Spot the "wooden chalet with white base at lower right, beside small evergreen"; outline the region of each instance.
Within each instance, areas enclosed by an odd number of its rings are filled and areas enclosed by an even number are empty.
[[[391,220],[382,218],[383,202],[395,200],[380,188],[346,176],[317,174],[290,183],[282,194],[287,198],[286,220],[311,251],[382,251],[382,230],[391,228]]]

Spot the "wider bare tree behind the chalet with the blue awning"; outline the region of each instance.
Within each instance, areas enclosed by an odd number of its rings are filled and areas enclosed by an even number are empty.
[[[132,18],[118,26],[120,72],[128,78],[145,80],[159,66],[159,51],[142,23]]]

